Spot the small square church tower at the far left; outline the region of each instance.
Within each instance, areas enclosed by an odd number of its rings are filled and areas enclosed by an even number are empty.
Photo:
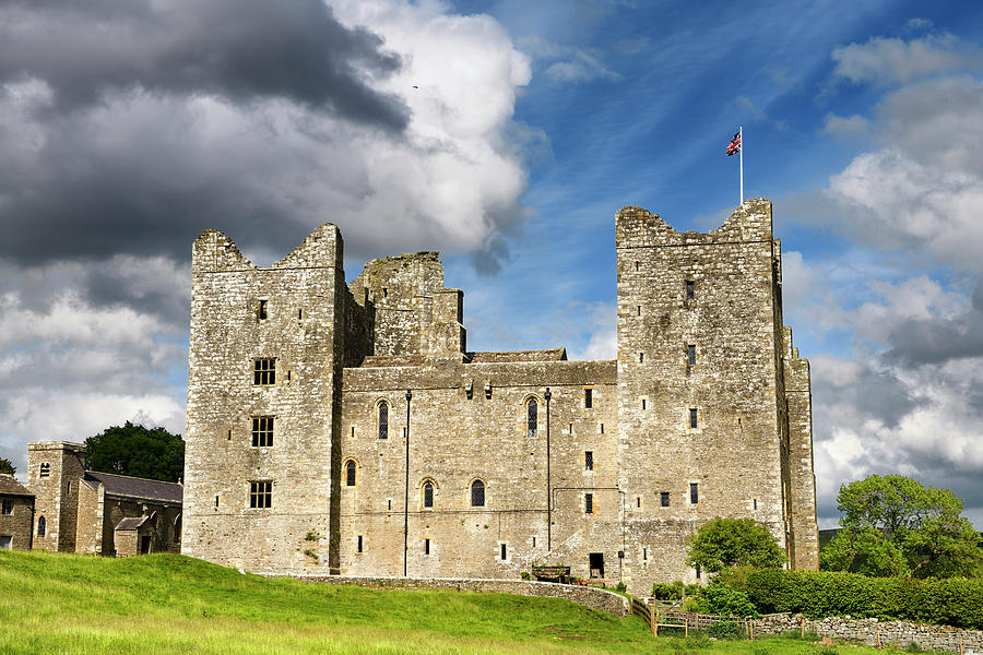
[[[34,548],[74,552],[79,483],[85,446],[69,441],[27,444],[27,488],[34,493]]]

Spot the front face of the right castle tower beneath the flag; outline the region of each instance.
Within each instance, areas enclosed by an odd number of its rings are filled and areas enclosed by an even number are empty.
[[[715,515],[750,516],[784,544],[771,205],[746,202],[708,234],[626,207],[616,245],[625,567],[641,593],[696,581],[686,538]]]

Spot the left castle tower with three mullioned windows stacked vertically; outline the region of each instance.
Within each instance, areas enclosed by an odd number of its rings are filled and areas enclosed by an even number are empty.
[[[196,240],[185,553],[300,567],[308,532],[330,540],[346,294],[333,225],[269,269],[218,231]],[[258,358],[275,359],[275,383],[254,384]],[[252,445],[253,417],[273,417],[272,446]],[[251,483],[271,483],[272,507],[250,507]]]

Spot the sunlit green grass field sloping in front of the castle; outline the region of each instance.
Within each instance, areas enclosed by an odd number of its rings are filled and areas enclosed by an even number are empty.
[[[265,580],[175,555],[0,550],[0,590],[4,654],[838,652],[789,639],[654,640],[637,617],[553,598]]]

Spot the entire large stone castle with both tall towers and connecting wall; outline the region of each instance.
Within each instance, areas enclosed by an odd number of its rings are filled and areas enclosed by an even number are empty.
[[[325,224],[270,267],[193,245],[182,552],[256,571],[694,582],[713,516],[818,565],[809,367],[771,203],[615,221],[617,359],[471,352],[434,252],[351,284]]]

